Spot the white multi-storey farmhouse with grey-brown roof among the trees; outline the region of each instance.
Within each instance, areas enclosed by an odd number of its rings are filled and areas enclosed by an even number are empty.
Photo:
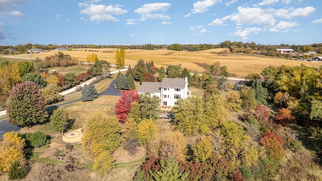
[[[191,96],[186,78],[163,78],[162,82],[142,82],[138,88],[138,94],[150,93],[157,96],[164,106],[174,106],[177,100]]]

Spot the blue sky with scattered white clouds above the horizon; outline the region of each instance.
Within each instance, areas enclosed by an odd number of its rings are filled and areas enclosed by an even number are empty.
[[[322,43],[320,0],[0,0],[0,45]]]

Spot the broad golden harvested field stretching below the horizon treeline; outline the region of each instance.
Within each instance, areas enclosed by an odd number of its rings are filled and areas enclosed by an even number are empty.
[[[87,50],[87,51],[85,51]],[[89,51],[92,50],[92,51]],[[217,61],[221,65],[226,65],[228,72],[238,77],[244,77],[249,73],[260,73],[263,68],[273,65],[287,65],[298,66],[302,63],[306,66],[318,67],[321,65],[319,62],[307,62],[307,61],[295,61],[284,60],[281,58],[274,58],[261,55],[239,55],[239,54],[215,54],[212,52],[220,52],[227,49],[210,49],[199,52],[188,51],[173,51],[173,50],[141,50],[141,49],[127,49],[125,54],[125,65],[134,66],[139,59],[144,61],[153,60],[156,67],[169,66],[181,64],[182,67],[186,67],[190,71],[204,72],[206,71],[202,64],[213,64]],[[98,51],[98,52],[96,52]],[[109,61],[115,64],[114,56],[116,49],[102,48],[102,49],[74,49],[73,51],[64,51],[64,54],[69,54],[72,57],[77,58],[79,61],[86,61],[87,55],[97,54],[100,60]],[[112,52],[112,53],[111,53]],[[32,58],[44,58],[46,56],[57,53],[56,51],[48,51],[41,54],[25,54],[25,57]]]

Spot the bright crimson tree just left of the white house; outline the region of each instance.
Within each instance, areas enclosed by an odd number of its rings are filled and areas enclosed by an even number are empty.
[[[138,102],[139,94],[137,91],[130,89],[129,91],[122,91],[121,98],[115,104],[115,114],[116,117],[122,121],[126,122],[127,115],[131,110],[131,103]]]

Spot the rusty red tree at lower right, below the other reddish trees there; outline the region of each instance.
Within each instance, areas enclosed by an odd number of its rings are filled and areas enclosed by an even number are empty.
[[[280,161],[285,156],[283,148],[284,141],[274,133],[267,132],[267,134],[261,139],[261,143],[267,148],[271,157]]]

